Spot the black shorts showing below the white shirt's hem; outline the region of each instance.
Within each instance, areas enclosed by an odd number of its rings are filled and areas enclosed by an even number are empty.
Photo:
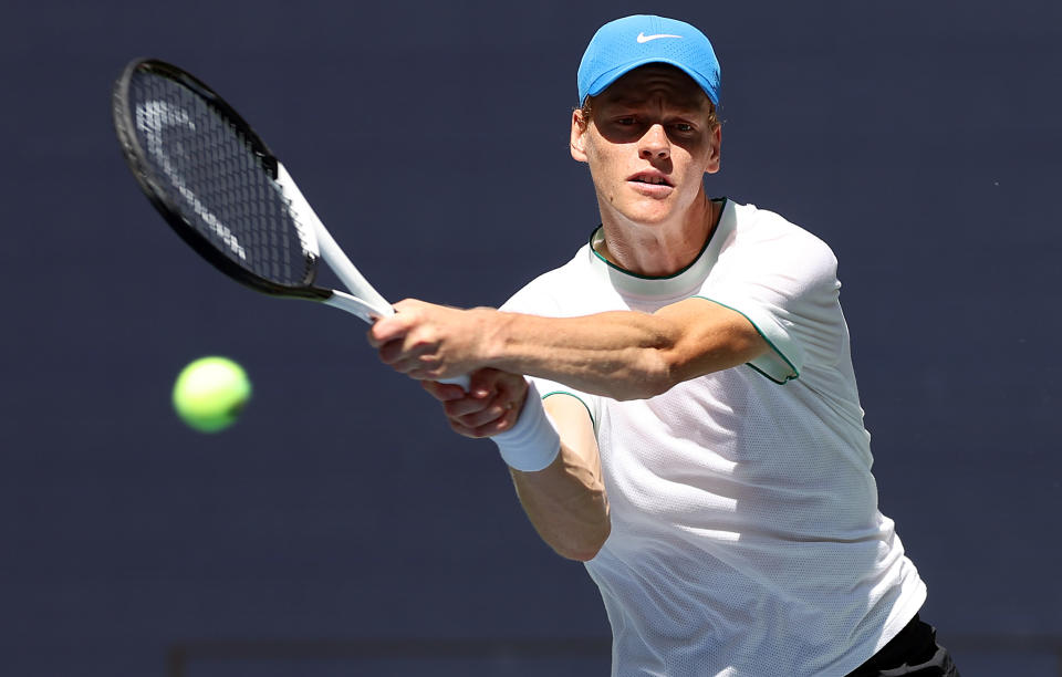
[[[948,649],[937,644],[937,631],[918,614],[899,634],[848,674],[848,677],[959,677]]]

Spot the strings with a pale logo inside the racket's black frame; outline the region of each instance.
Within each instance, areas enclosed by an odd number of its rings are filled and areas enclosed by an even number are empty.
[[[309,284],[315,254],[289,201],[235,124],[173,80],[129,84],[137,138],[183,220],[228,259],[270,282]]]

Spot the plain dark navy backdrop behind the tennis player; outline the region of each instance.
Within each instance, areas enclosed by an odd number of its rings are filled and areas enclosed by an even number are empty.
[[[9,2],[0,674],[162,674],[195,638],[607,634],[493,446],[451,436],[364,325],[256,295],[178,241],[119,157],[108,97],[134,56],[183,65],[385,295],[497,305],[596,223],[568,154],[575,67],[601,23],[646,10],[720,55],[709,192],[841,260],[881,504],[926,615],[945,640],[1062,634],[1060,8]],[[256,386],[212,437],[169,407],[204,354]],[[965,675],[1001,674],[976,654]]]

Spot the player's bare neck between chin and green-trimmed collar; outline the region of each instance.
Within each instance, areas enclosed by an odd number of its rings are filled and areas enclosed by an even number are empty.
[[[639,275],[671,275],[700,253],[715,228],[719,206],[704,188],[680,218],[660,223],[636,223],[602,210],[604,241],[594,249],[612,263]]]

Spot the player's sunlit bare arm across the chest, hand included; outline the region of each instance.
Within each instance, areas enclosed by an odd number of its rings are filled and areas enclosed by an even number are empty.
[[[368,341],[385,364],[417,379],[494,367],[613,399],[642,399],[768,350],[745,315],[697,298],[652,314],[581,317],[462,311],[413,299],[395,310],[369,327]]]

